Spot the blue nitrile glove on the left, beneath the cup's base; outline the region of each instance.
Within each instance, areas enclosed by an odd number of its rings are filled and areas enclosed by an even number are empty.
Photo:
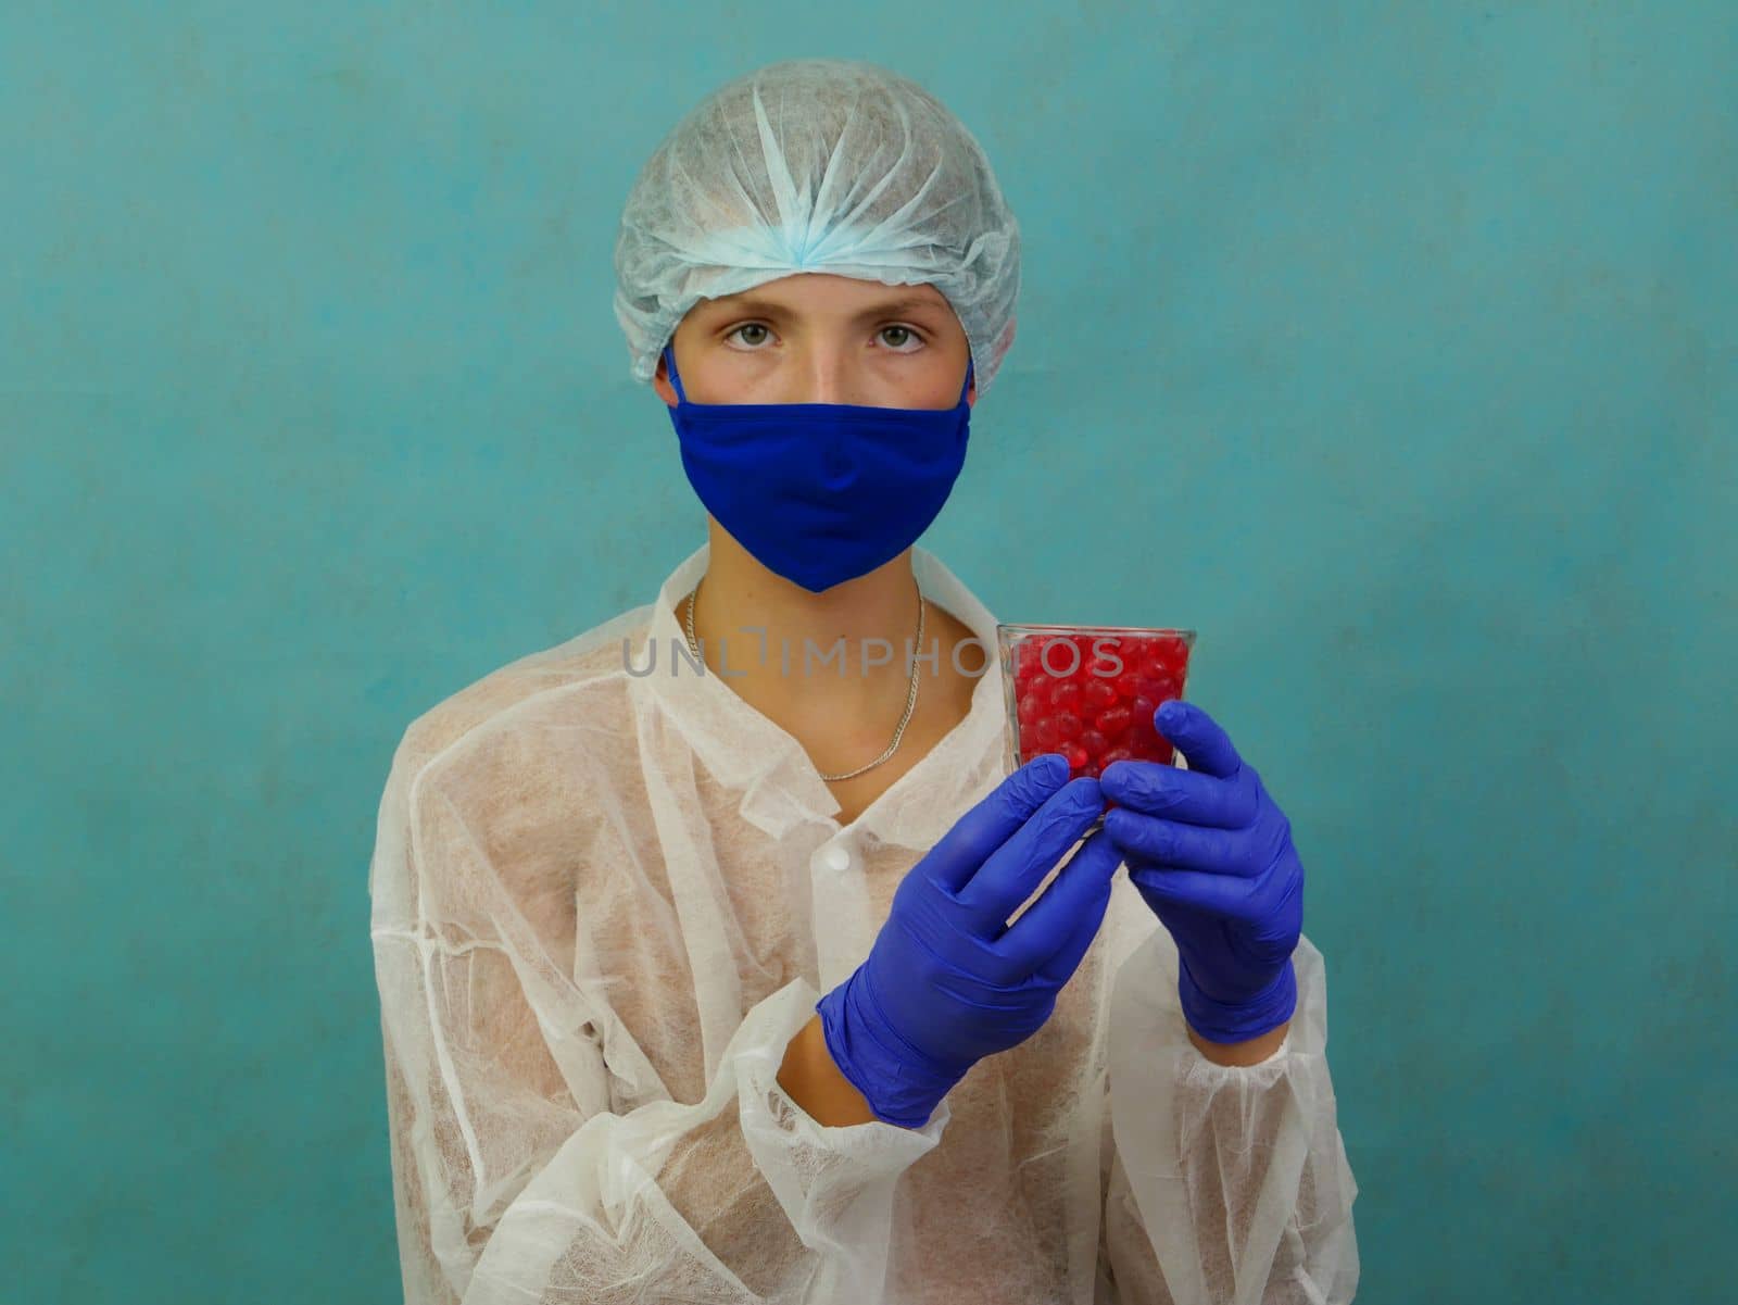
[[[1111,902],[1119,864],[1093,834],[1018,911],[1104,810],[1098,782],[1034,758],[942,836],[893,891],[857,971],[815,1003],[827,1051],[876,1117],[923,1128],[966,1070],[1038,1032]]]

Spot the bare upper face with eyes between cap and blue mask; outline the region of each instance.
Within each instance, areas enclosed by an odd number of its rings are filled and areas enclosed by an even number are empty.
[[[881,285],[798,273],[702,299],[673,341],[693,403],[857,403],[951,408],[972,349],[933,285]],[[653,379],[671,407],[662,354]],[[977,401],[977,381],[966,391]]]

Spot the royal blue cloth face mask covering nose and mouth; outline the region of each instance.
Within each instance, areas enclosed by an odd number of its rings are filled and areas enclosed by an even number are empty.
[[[966,460],[972,365],[952,408],[690,403],[664,346],[669,419],[700,502],[766,570],[822,593],[930,528]]]

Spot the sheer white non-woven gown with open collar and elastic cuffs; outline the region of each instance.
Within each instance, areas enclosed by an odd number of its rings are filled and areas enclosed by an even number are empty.
[[[784,1093],[786,1046],[900,878],[1001,780],[1003,685],[991,664],[841,829],[789,733],[671,674],[706,561],[395,752],[370,893],[407,1300],[1350,1300],[1319,951],[1300,938],[1279,1051],[1217,1065],[1123,869],[1050,1020],[926,1126],[822,1128]],[[982,603],[912,563],[994,648]]]

